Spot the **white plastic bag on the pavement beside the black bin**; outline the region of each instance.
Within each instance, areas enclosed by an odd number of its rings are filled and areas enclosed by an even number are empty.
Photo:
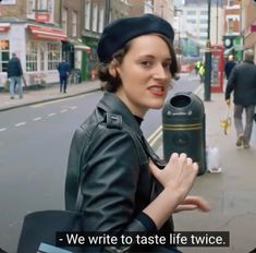
[[[206,148],[206,164],[207,170],[210,173],[220,173],[222,171],[220,167],[220,152],[217,146]]]

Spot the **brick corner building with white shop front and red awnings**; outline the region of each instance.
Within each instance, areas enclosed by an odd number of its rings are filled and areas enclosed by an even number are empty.
[[[27,85],[58,82],[57,65],[62,55],[72,68],[81,68],[80,62],[74,62],[75,57],[72,61],[66,55],[64,47],[81,37],[81,4],[82,0],[8,0],[0,3],[0,86],[5,83],[7,62],[12,52],[21,59]],[[74,55],[76,48],[72,51]]]

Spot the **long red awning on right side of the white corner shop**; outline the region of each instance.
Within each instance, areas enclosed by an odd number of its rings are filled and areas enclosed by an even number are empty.
[[[27,27],[36,38],[68,41],[68,37],[62,29],[37,25],[28,25]]]

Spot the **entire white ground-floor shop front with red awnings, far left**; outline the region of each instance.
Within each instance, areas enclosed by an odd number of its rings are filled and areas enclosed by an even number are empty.
[[[1,24],[0,86],[7,83],[7,64],[12,52],[21,59],[28,86],[59,82],[57,65],[61,61],[62,41],[66,40],[60,28],[26,22]]]

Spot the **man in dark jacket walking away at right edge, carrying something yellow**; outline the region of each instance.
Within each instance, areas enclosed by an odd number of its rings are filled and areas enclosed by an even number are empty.
[[[229,77],[225,88],[225,101],[230,106],[230,96],[233,92],[234,125],[236,130],[236,146],[249,148],[253,130],[254,111],[256,105],[256,65],[254,51],[244,51],[244,62],[236,64]],[[242,115],[245,110],[245,126]]]

